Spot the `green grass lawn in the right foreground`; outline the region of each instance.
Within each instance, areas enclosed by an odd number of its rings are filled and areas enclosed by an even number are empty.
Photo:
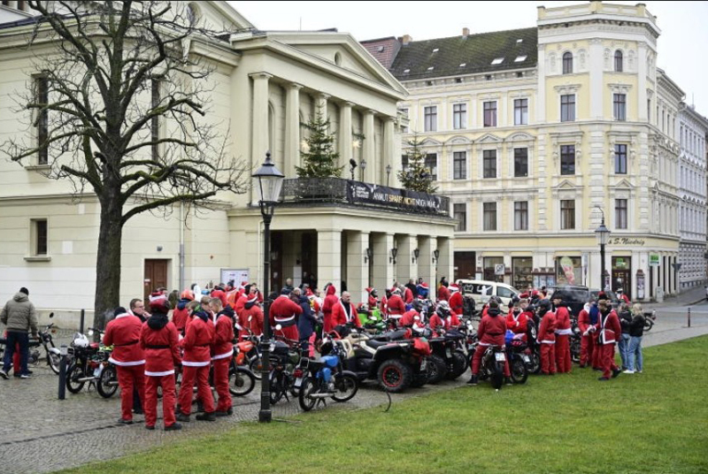
[[[645,373],[459,387],[381,408],[240,424],[69,472],[708,472],[708,336],[644,350]],[[88,469],[87,469],[88,468]]]

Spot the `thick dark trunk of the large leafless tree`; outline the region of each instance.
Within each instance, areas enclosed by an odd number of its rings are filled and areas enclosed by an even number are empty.
[[[104,328],[106,315],[120,306],[120,246],[123,237],[122,209],[118,199],[101,206],[96,255],[96,300],[94,326]]]

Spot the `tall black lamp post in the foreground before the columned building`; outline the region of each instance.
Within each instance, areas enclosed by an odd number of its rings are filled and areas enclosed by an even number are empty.
[[[266,162],[252,174],[253,178],[258,178],[258,192],[260,194],[260,214],[263,216],[263,294],[266,296],[264,303],[263,339],[260,342],[261,350],[261,389],[260,389],[260,411],[258,411],[258,421],[269,423],[272,419],[271,413],[271,386],[270,378],[270,348],[271,348],[271,328],[268,323],[268,313],[271,302],[268,299],[270,293],[271,279],[271,220],[275,211],[275,204],[281,197],[282,181],[285,176],[275,167],[271,160],[270,151],[266,152]]]

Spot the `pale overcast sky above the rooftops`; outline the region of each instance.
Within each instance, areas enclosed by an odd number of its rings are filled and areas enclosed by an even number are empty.
[[[229,2],[263,30],[337,28],[358,41],[410,34],[414,41],[534,27],[536,6],[576,2]],[[637,4],[639,2],[607,2]],[[643,2],[662,34],[658,67],[708,116],[708,2]]]

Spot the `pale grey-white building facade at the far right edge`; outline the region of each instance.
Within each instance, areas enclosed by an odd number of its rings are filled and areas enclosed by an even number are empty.
[[[706,280],[706,149],[708,119],[693,106],[679,111],[679,283],[681,289]]]

